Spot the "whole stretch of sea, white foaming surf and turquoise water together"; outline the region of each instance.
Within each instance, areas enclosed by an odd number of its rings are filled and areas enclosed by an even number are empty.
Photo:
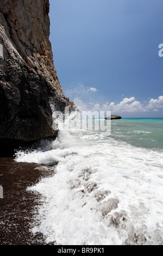
[[[47,243],[163,244],[163,119],[111,120],[111,133],[62,130],[16,161],[58,163],[28,188],[42,194],[32,231]]]

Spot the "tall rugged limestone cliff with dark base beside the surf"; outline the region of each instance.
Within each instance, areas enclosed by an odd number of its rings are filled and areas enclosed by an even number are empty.
[[[0,138],[33,141],[57,135],[49,99],[63,111],[49,41],[48,0],[0,2]]]

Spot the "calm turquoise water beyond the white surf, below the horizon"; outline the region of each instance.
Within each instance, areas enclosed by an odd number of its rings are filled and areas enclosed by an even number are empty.
[[[163,149],[163,118],[111,120],[111,137],[136,147]]]

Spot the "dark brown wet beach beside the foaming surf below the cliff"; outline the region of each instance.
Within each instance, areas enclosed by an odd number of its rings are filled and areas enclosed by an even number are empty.
[[[43,164],[17,163],[13,157],[0,158],[0,245],[46,245],[42,234],[33,235],[30,228],[41,204],[41,195],[27,191],[41,178],[54,175],[54,169]]]

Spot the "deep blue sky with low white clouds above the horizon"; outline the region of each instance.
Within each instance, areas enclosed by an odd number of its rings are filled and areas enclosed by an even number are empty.
[[[162,10],[162,0],[50,0],[65,95],[122,117],[163,117]]]

